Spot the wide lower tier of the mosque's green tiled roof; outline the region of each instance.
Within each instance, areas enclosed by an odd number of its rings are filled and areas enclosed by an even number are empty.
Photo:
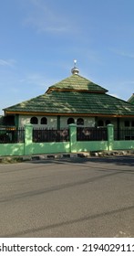
[[[134,115],[134,106],[105,93],[53,91],[9,107],[6,111]]]

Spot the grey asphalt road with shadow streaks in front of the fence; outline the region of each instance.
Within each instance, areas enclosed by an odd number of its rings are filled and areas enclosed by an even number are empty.
[[[134,158],[0,165],[0,237],[134,237]]]

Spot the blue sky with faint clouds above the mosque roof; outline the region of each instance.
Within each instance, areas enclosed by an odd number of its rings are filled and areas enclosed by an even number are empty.
[[[133,0],[1,0],[0,114],[79,75],[127,101],[134,92]]]

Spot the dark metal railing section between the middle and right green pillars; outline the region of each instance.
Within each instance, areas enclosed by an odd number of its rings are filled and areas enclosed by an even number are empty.
[[[77,141],[107,141],[107,128],[77,127]]]

